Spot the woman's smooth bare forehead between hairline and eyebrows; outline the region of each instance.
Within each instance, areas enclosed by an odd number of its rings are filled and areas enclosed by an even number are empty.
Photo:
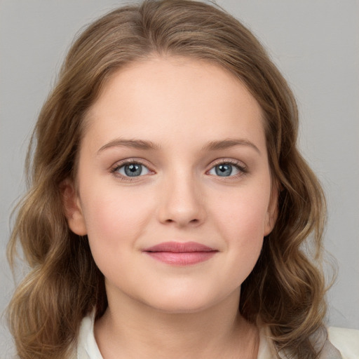
[[[102,141],[263,140],[262,110],[243,83],[218,65],[183,57],[152,57],[118,70],[86,120],[86,132]]]

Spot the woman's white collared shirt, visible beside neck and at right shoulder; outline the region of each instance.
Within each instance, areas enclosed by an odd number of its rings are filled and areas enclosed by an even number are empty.
[[[103,359],[93,334],[94,316],[83,318],[77,347],[77,359]],[[328,329],[330,343],[320,358],[337,359],[336,348],[342,359],[359,359],[359,330],[330,327]],[[333,348],[333,346],[335,348]],[[259,349],[257,359],[273,359],[271,341],[266,337],[264,329],[259,331]],[[283,357],[285,359],[285,357]]]

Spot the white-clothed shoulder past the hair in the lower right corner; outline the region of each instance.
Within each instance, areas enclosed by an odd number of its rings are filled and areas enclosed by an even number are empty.
[[[343,359],[359,358],[359,330],[329,327],[328,337]]]

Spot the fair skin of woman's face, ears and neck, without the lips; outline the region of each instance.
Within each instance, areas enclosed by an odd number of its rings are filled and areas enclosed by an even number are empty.
[[[86,121],[65,206],[105,277],[104,359],[257,358],[257,328],[238,303],[273,229],[276,190],[255,98],[217,65],[151,57],[114,74]],[[124,161],[143,175],[129,180]],[[221,163],[231,175],[217,175]],[[184,266],[143,252],[167,241],[216,252]]]

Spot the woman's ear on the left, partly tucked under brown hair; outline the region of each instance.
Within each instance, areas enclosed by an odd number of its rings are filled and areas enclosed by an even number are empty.
[[[62,181],[60,184],[60,192],[69,229],[79,236],[85,236],[87,234],[86,222],[83,217],[79,195],[77,194],[74,182],[71,179]]]

